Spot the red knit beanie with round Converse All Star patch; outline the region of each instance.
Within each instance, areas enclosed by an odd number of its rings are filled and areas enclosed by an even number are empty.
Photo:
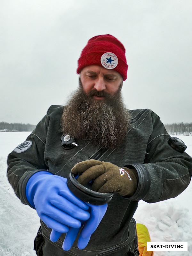
[[[90,65],[113,69],[123,76],[123,80],[127,79],[125,48],[114,36],[100,35],[89,39],[78,60],[77,74]]]

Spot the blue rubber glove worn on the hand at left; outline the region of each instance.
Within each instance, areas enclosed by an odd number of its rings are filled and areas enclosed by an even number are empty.
[[[28,202],[41,220],[57,232],[80,228],[90,218],[89,206],[68,189],[67,179],[50,172],[36,172],[26,186]]]

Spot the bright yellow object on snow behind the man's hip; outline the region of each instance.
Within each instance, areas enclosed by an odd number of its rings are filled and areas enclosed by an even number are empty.
[[[137,236],[140,253],[139,256],[153,256],[153,251],[147,250],[147,242],[150,242],[151,239],[145,225],[137,223]]]

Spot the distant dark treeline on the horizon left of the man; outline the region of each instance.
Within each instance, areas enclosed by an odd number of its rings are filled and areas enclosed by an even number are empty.
[[[21,123],[5,123],[0,122],[0,131],[1,132],[30,132],[35,129],[36,125],[34,124],[21,124]]]

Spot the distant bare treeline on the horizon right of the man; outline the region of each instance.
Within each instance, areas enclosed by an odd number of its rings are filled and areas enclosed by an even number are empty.
[[[174,123],[174,124],[165,124],[164,125],[169,134],[183,134],[189,135],[192,134],[192,123]]]

